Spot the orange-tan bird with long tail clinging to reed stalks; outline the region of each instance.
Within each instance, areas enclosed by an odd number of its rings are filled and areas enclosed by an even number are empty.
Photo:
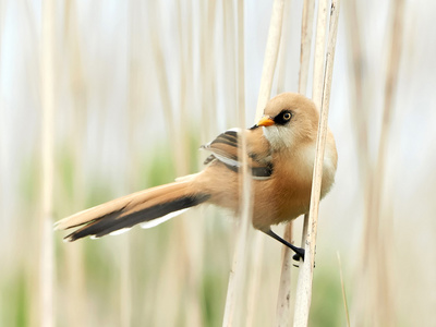
[[[76,228],[64,238],[66,242],[95,239],[135,225],[155,227],[201,204],[230,209],[238,217],[244,162],[252,179],[253,227],[293,250],[295,261],[304,261],[304,249],[277,235],[271,226],[308,213],[318,121],[313,100],[298,93],[279,94],[266,104],[255,125],[228,130],[203,145],[210,155],[202,171],[80,211],[56,222],[55,229]],[[328,129],[322,198],[335,182],[337,162],[335,137]]]

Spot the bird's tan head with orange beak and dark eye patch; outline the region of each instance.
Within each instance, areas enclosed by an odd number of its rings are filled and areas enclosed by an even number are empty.
[[[272,149],[293,147],[296,144],[314,144],[319,112],[315,104],[296,93],[282,93],[270,99],[257,126]]]

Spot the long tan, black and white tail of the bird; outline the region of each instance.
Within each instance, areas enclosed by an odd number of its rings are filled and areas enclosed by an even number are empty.
[[[121,233],[134,225],[159,225],[210,197],[192,190],[189,181],[140,191],[83,210],[55,223],[55,229],[81,227],[64,238],[68,242]]]

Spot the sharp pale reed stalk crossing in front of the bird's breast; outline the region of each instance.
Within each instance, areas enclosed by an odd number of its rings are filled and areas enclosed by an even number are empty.
[[[317,232],[317,216],[319,208],[320,184],[323,178],[324,148],[327,136],[327,121],[330,101],[331,78],[336,49],[336,39],[338,33],[338,19],[340,1],[334,0],[330,8],[330,23],[328,34],[328,45],[326,53],[326,69],[323,89],[323,105],[320,108],[320,118],[318,126],[318,136],[316,140],[316,156],[314,174],[312,181],[311,208],[308,214],[308,229],[305,244],[305,261],[300,268],[296,286],[294,326],[307,326],[308,313],[312,300],[313,269],[315,264],[315,246]]]

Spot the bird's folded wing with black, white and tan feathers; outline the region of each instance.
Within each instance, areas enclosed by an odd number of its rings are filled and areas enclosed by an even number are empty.
[[[245,135],[246,162],[251,168],[253,178],[259,180],[270,178],[274,171],[271,152],[269,143],[259,128],[232,129],[219,134],[214,141],[202,146],[203,149],[211,153],[204,164],[219,160],[227,168],[238,171],[243,161],[240,153],[242,146],[241,133]]]

